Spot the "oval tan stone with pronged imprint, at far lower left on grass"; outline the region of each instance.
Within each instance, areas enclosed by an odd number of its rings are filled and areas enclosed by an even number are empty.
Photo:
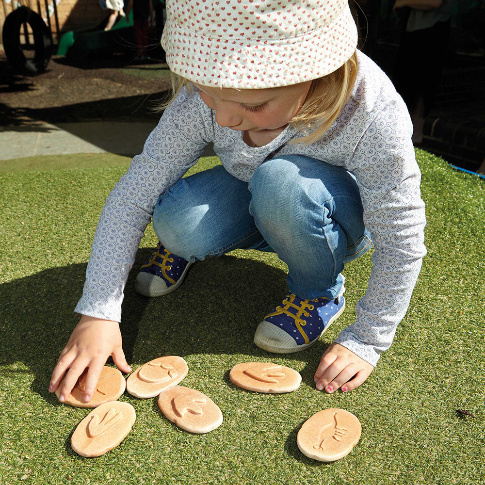
[[[131,404],[101,404],[78,424],[71,436],[71,447],[81,456],[101,456],[123,441],[135,418]]]

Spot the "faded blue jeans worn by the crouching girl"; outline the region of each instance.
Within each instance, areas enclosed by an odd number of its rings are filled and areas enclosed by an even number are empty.
[[[220,165],[182,178],[160,196],[153,226],[169,251],[192,261],[275,252],[290,291],[304,299],[341,294],[344,263],[372,246],[355,178],[296,155],[264,162],[249,184]]]

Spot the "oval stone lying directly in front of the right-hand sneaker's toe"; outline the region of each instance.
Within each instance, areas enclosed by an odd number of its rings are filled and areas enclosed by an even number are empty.
[[[302,382],[299,372],[283,365],[266,362],[237,364],[229,372],[229,378],[240,388],[274,394],[294,391]]]

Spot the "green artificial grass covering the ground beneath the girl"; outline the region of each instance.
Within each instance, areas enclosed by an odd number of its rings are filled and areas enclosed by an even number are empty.
[[[338,322],[312,348],[277,356],[252,339],[286,291],[285,265],[273,254],[233,251],[194,265],[178,291],[144,298],[134,278],[157,242],[150,226],[125,291],[126,356],[133,367],[162,355],[184,357],[189,374],[182,385],[207,394],[224,422],[192,435],[162,416],[156,398],[125,394],[120,400],[135,407],[137,420],[99,458],[70,448],[89,410],[59,404],[48,385],[77,323],[73,308],[98,215],[126,164],[42,171],[38,163],[37,171],[0,173],[0,483],[483,484],[485,184],[426,152],[417,155],[428,255],[392,347],[349,393],[317,391],[313,374],[328,344],[355,319],[369,254],[345,268],[347,309]],[[49,163],[59,167],[64,159]],[[294,368],[301,387],[280,395],[236,388],[230,368],[251,360]],[[329,464],[296,445],[303,422],[327,407],[362,423],[352,453]],[[475,418],[460,418],[457,409]]]

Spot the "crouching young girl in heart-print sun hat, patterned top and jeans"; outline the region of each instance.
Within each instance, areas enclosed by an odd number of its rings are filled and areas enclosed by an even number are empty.
[[[137,276],[142,294],[174,291],[195,261],[235,248],[274,251],[288,264],[289,292],[254,337],[275,353],[306,349],[342,313],[344,263],[373,242],[356,322],[314,378],[327,392],[356,388],[391,344],[425,254],[403,100],[356,50],[346,0],[172,0],[167,14],[174,99],[106,201],[76,307],[81,321],[50,391],[65,375],[63,402],[88,368],[87,402],[108,356],[131,370],[118,322],[152,218],[161,243]],[[222,166],[182,179],[210,142]]]

